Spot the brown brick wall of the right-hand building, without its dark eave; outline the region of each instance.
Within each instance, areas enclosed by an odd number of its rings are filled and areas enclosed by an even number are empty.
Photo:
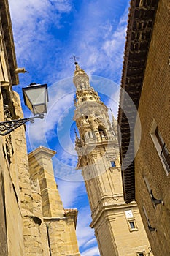
[[[169,171],[163,166],[152,140],[155,136],[155,130],[153,130],[153,124],[155,124],[170,152],[169,16],[170,2],[159,1],[139,102],[142,138],[135,159],[136,200],[155,256],[169,255],[170,252]],[[150,189],[152,189],[153,196],[163,200],[163,203],[158,205],[153,203]],[[148,228],[148,219],[153,230]]]

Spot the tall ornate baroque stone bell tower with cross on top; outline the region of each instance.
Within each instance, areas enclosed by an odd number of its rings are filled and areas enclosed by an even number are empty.
[[[117,146],[117,122],[90,86],[88,75],[75,62],[74,121],[77,169],[88,192],[92,222],[101,256],[139,255],[150,247],[136,202],[125,204]]]

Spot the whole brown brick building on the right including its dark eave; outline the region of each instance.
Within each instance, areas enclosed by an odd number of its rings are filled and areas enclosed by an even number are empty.
[[[169,17],[168,0],[131,1],[118,120],[125,201],[136,200],[155,256],[170,255]]]

